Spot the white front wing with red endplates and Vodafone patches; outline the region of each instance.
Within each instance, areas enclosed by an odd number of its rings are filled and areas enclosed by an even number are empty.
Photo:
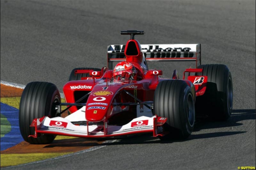
[[[29,137],[40,137],[41,134],[64,135],[74,137],[115,137],[137,133],[153,133],[153,136],[165,135],[163,124],[167,118],[159,116],[140,116],[123,126],[95,125],[87,121],[86,125],[75,125],[66,118],[54,117],[34,119],[31,127],[35,127],[35,134]]]

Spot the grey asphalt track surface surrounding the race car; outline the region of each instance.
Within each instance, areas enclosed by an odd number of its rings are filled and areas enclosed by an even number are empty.
[[[228,65],[233,113],[203,121],[186,141],[143,135],[12,169],[237,169],[255,166],[255,1],[1,1],[1,80],[48,81],[59,89],[75,67],[107,63],[121,30],[141,44],[201,43],[202,64]],[[191,63],[150,63],[165,77]],[[180,71],[181,74],[181,71]],[[61,90],[60,90],[61,91]]]

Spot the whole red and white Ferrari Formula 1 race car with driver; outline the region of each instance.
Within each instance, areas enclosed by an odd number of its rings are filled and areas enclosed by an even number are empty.
[[[186,139],[196,115],[217,120],[231,115],[233,87],[226,65],[201,65],[201,44],[140,44],[130,35],[126,45],[108,46],[108,67],[76,68],[63,87],[31,82],[20,100],[20,132],[31,144],[51,143],[56,135],[115,137],[152,133],[160,139]],[[149,70],[148,61],[194,61],[183,79],[174,70],[170,79],[162,70]],[[119,62],[113,68],[113,62]],[[199,63],[199,66],[197,66]],[[67,106],[61,109],[61,106]],[[70,113],[63,118],[61,114]]]

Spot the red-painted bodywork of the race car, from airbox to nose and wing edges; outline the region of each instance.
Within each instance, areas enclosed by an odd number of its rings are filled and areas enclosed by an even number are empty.
[[[132,51],[131,51],[132,50]],[[163,130],[159,130],[159,127],[166,122],[166,118],[154,117],[154,127],[149,130],[140,131],[131,131],[120,134],[109,134],[108,126],[109,125],[119,125],[126,124],[131,122],[134,118],[137,117],[136,107],[134,106],[116,106],[117,103],[136,103],[136,99],[128,95],[126,92],[129,92],[137,99],[146,102],[154,101],[154,92],[160,81],[166,80],[164,78],[158,77],[162,75],[162,70],[148,70],[146,61],[147,60],[170,60],[170,58],[147,58],[143,54],[143,50],[140,46],[140,43],[137,40],[127,41],[124,49],[125,61],[132,63],[138,74],[142,77],[142,80],[129,80],[129,81],[120,81],[113,80],[113,70],[107,69],[104,72],[102,71],[93,71],[93,70],[76,70],[75,74],[89,73],[90,77],[84,77],[82,80],[69,81],[63,87],[63,92],[65,100],[67,103],[75,103],[81,96],[90,92],[90,95],[80,103],[86,103],[85,109],[85,119],[87,123],[87,135],[78,135],[74,133],[61,133],[61,132],[52,132],[40,130],[38,127],[41,126],[42,119],[35,119],[31,126],[35,127],[36,133],[32,137],[37,137],[40,133],[56,134],[56,135],[68,135],[68,136],[78,136],[78,137],[111,137],[119,135],[128,135],[133,133],[140,132],[153,132],[153,136],[162,136],[164,134]],[[196,54],[197,55],[197,54]],[[173,58],[177,60],[177,58]],[[180,60],[193,60],[198,61],[198,58],[180,58]],[[108,61],[124,61],[124,58],[108,58]],[[185,73],[188,72],[188,78],[185,80]],[[206,76],[190,76],[190,73],[198,74],[202,73],[202,69],[186,69],[183,75],[184,81],[188,83],[191,88],[191,91],[194,96],[203,95],[206,89],[207,77]],[[171,77],[171,76],[170,76]],[[178,78],[176,75],[173,75],[172,78]],[[72,106],[69,108],[71,113],[76,112],[79,109],[77,106]],[[143,110],[143,105],[140,106],[140,109]],[[154,115],[154,114],[153,114]],[[152,115],[152,116],[153,116]],[[38,122],[39,121],[39,122]],[[145,120],[146,122],[146,120]],[[144,122],[144,123],[145,123]],[[94,131],[103,131],[104,135],[93,135],[93,131],[90,131],[89,124],[98,123],[98,129]],[[101,123],[101,124],[100,124]],[[133,128],[137,123],[138,126],[141,126],[140,123],[143,121],[134,121],[131,123]],[[146,123],[147,124],[147,123]],[[158,128],[157,128],[158,127]]]

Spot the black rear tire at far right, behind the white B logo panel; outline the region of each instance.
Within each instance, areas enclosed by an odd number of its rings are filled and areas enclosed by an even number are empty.
[[[204,95],[196,97],[196,113],[210,114],[214,120],[228,120],[233,107],[232,76],[226,65],[205,64],[198,66],[207,76]]]

